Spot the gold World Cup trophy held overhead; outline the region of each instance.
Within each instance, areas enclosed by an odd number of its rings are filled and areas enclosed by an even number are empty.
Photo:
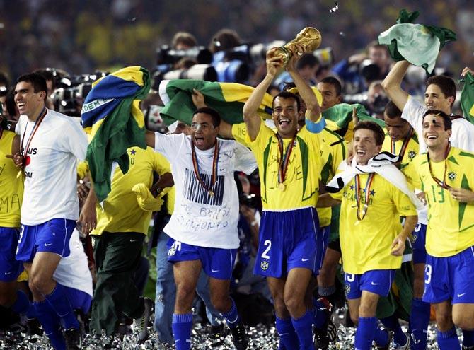
[[[294,54],[303,54],[303,52],[297,52],[296,45],[304,47],[304,52],[313,52],[321,45],[321,33],[319,30],[313,27],[306,27],[296,35],[294,40],[287,42],[284,46],[279,46],[272,52],[272,57],[280,56],[283,59],[283,64],[286,66],[289,59]]]

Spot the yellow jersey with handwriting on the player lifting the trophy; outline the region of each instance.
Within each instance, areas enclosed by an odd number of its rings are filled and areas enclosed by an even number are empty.
[[[247,144],[253,151],[260,174],[262,206],[269,211],[287,211],[316,206],[323,164],[320,157],[320,139],[303,127],[299,130],[289,157],[284,179],[285,189],[279,189],[278,171],[280,152],[276,134],[263,121],[258,136]],[[291,139],[283,139],[284,152]]]

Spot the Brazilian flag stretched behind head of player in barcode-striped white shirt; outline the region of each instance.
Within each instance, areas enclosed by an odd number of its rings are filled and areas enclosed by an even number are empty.
[[[196,107],[192,103],[192,89],[204,95],[204,103],[219,112],[221,118],[229,124],[243,122],[242,109],[250,94],[255,90],[252,86],[238,83],[218,83],[192,79],[163,80],[159,93],[165,107],[160,115],[166,125],[177,120],[191,125],[192,113]],[[272,96],[265,93],[258,110],[260,117],[272,117]]]

